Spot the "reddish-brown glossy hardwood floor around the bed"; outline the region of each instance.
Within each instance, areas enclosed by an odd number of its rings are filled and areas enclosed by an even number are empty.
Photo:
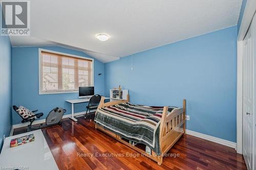
[[[23,132],[26,128],[14,130],[14,134]],[[246,169],[242,155],[234,149],[191,135],[183,135],[159,166],[95,130],[94,123],[83,117],[78,117],[77,123],[63,119],[61,126],[44,128],[42,132],[59,169]]]

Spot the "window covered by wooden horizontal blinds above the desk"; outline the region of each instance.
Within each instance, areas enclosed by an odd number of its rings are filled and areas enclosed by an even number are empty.
[[[93,86],[93,59],[39,50],[39,93],[77,92]]]

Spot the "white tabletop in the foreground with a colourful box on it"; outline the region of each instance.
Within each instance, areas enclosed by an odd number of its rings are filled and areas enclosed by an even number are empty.
[[[14,148],[10,148],[10,141],[13,138],[34,134],[35,140]],[[58,169],[44,135],[41,130],[31,131],[5,138],[3,149],[0,155],[0,167],[13,169]],[[4,168],[3,168],[4,169]]]

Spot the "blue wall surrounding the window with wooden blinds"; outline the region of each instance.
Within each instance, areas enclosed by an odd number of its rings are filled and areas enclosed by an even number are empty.
[[[41,94],[38,85],[38,48],[39,47],[13,47],[12,48],[12,104],[25,106],[30,110],[39,109],[44,112],[46,118],[51,109],[62,107],[67,109],[66,114],[71,114],[71,104],[65,102],[67,99],[77,99],[78,93]],[[90,56],[63,47],[40,47],[61,53],[68,53],[83,57]],[[101,76],[98,74],[101,73]],[[104,94],[104,64],[94,59],[94,86],[95,93]],[[86,110],[86,103],[75,104],[75,112]],[[12,123],[20,124],[21,119],[12,112]]]

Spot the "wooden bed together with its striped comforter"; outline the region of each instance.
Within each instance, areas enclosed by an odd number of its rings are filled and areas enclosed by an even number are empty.
[[[185,134],[185,106],[185,100],[183,108],[150,107],[131,104],[129,95],[127,100],[107,103],[102,97],[95,115],[95,128],[161,165],[163,156]],[[150,150],[146,152],[145,148],[137,147],[137,143]]]

